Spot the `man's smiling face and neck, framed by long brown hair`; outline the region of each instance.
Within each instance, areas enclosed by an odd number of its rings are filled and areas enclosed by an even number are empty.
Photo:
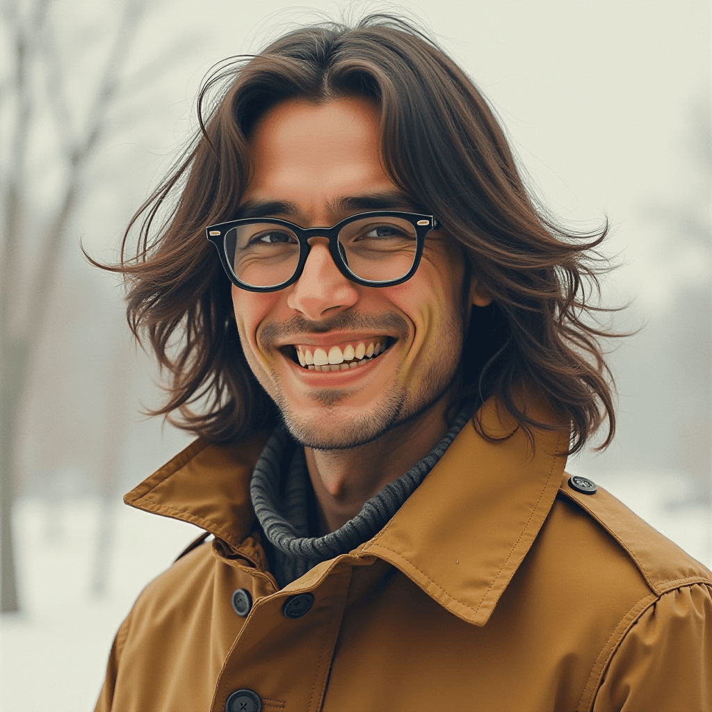
[[[373,100],[279,103],[251,132],[244,217],[209,229],[228,246],[246,360],[306,446],[324,532],[444,435],[464,324],[490,301],[475,278],[465,286],[464,251],[384,172],[379,140]],[[300,229],[323,225],[330,236]]]

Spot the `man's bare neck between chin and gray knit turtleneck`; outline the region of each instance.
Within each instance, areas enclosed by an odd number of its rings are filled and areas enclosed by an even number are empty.
[[[320,535],[354,518],[389,482],[422,460],[443,438],[447,401],[441,398],[376,440],[348,450],[305,448],[317,503]]]

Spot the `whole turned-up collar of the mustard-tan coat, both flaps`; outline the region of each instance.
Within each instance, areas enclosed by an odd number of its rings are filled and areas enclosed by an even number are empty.
[[[567,429],[525,434],[493,400],[466,424],[392,520],[357,551],[410,577],[456,616],[484,625],[548,515],[565,466]],[[550,412],[530,408],[545,422]],[[511,435],[511,436],[510,436]],[[130,506],[193,523],[239,551],[253,525],[249,483],[266,438],[239,446],[198,439],[128,493]]]

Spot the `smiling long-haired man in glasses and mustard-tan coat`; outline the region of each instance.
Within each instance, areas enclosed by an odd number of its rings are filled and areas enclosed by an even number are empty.
[[[564,472],[614,430],[605,231],[538,214],[476,88],[394,19],[215,87],[118,268],[159,412],[200,436],[126,501],[214,539],[142,592],[97,709],[712,709],[711,573]]]

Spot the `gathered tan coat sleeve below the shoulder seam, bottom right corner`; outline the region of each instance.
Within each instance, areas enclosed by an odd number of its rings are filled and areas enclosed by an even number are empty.
[[[712,586],[662,595],[629,629],[593,712],[712,711]]]

